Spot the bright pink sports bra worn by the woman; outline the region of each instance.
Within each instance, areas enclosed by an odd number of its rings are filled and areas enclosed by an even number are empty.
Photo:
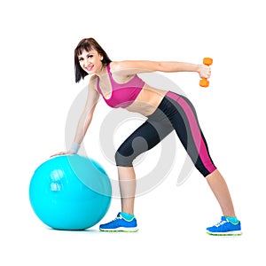
[[[107,72],[112,86],[112,94],[110,98],[104,97],[102,90],[100,89],[99,86],[99,78],[97,80],[98,92],[105,99],[106,104],[113,108],[119,108],[119,107],[126,108],[130,106],[135,101],[137,95],[144,87],[145,82],[142,79],[140,79],[137,76],[137,74],[135,74],[134,77],[129,80],[129,82],[126,83],[115,82],[113,80],[112,73],[110,72],[110,64],[107,65]]]

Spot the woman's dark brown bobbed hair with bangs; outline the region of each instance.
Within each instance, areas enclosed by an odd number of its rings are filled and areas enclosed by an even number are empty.
[[[78,43],[77,47],[74,49],[74,75],[75,75],[75,82],[80,82],[88,73],[82,69],[80,65],[78,56],[82,54],[82,51],[91,51],[95,49],[98,51],[103,59],[102,62],[104,65],[108,65],[112,62],[111,59],[106,54],[106,51],[95,41],[93,38],[86,38],[82,39],[80,43]]]

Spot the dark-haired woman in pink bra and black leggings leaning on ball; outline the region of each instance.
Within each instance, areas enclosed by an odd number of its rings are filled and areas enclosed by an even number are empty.
[[[215,167],[207,150],[192,103],[184,96],[149,86],[137,74],[147,72],[197,72],[200,78],[209,78],[210,69],[203,65],[181,62],[120,61],[113,62],[106,51],[93,38],[83,39],[74,50],[75,82],[91,74],[88,98],[80,117],[73,145],[67,152],[77,153],[90,126],[90,121],[101,95],[108,106],[125,108],[141,113],[147,120],[135,130],[115,154],[118,168],[121,212],[110,223],[101,224],[101,231],[137,231],[134,215],[136,176],[133,160],[176,130],[187,153],[207,184],[214,192],[223,212],[221,222],[208,227],[214,235],[239,235],[241,225],[237,219],[231,195],[223,176]],[[147,145],[143,145],[145,139]],[[134,142],[134,147],[133,147]]]

